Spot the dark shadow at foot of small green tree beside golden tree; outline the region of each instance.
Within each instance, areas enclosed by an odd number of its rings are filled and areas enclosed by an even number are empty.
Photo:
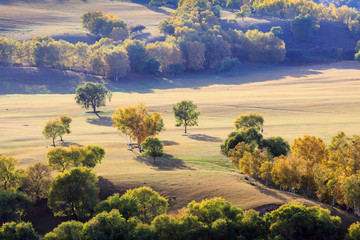
[[[136,156],[136,161],[145,163],[149,166],[155,167],[159,171],[171,171],[171,170],[195,170],[189,166],[186,166],[184,161],[175,158],[173,155],[164,154],[162,157],[157,157],[154,164],[152,157],[144,157],[141,155]]]

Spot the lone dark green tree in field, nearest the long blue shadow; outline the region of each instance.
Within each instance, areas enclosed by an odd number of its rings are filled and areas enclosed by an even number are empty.
[[[90,107],[96,113],[97,107],[105,106],[106,99],[111,101],[111,91],[100,83],[85,83],[76,89],[76,103],[85,109]]]

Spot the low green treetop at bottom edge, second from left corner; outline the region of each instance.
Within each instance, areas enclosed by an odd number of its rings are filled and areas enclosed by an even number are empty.
[[[43,240],[75,240],[83,239],[83,223],[67,221],[59,224],[51,232],[45,234]]]

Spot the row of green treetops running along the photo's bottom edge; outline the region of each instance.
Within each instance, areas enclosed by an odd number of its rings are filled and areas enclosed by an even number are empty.
[[[296,202],[284,204],[262,217],[222,198],[192,201],[177,214],[169,215],[166,211],[167,200],[157,192],[148,187],[132,189],[98,203],[89,221],[63,222],[43,239],[339,239],[340,236],[339,217],[321,207]],[[357,239],[358,225],[349,228],[350,239]],[[30,223],[12,222],[0,228],[0,236],[5,238],[16,233],[23,239],[39,239]]]

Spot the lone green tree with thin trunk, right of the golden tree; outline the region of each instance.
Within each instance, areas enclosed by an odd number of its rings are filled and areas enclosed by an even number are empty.
[[[199,111],[196,111],[197,106],[192,101],[183,100],[173,106],[173,112],[176,119],[177,127],[183,125],[185,127],[185,133],[187,133],[188,126],[197,126],[197,119],[200,115]]]

